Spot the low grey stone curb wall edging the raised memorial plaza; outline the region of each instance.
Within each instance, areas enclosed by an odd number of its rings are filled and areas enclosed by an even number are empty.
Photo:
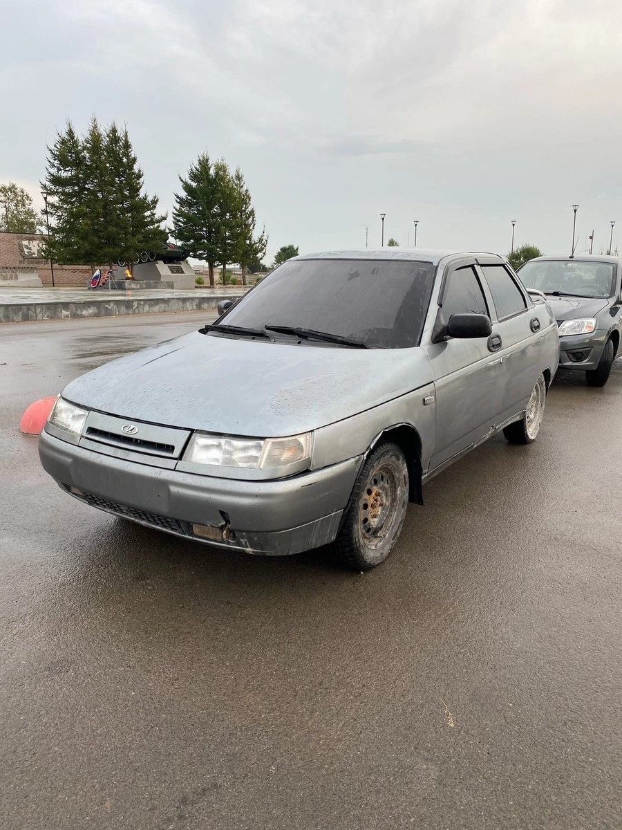
[[[173,314],[176,311],[216,310],[221,300],[241,295],[212,294],[182,297],[145,297],[84,302],[18,303],[0,305],[0,323],[27,323],[35,320],[80,320],[89,317],[118,317],[134,314]]]

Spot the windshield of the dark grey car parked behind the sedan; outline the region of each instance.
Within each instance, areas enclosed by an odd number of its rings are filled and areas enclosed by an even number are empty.
[[[544,294],[611,297],[615,293],[615,266],[581,260],[532,260],[518,272],[525,288]]]

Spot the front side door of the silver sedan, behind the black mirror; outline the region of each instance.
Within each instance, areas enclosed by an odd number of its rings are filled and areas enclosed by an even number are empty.
[[[473,264],[449,266],[435,307],[436,325],[451,315],[474,312],[490,316]],[[427,336],[427,340],[426,340]],[[505,363],[498,354],[498,333],[490,338],[447,339],[432,343],[430,330],[422,346],[428,354],[436,392],[436,443],[430,461],[435,470],[488,435],[503,406]]]

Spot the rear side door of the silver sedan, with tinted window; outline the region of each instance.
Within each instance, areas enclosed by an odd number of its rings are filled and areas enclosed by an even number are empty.
[[[503,262],[479,260],[479,269],[492,300],[491,312],[507,358],[503,418],[527,406],[542,372],[542,320],[527,291]]]

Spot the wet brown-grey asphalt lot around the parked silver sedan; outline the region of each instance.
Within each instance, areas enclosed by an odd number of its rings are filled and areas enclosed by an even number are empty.
[[[28,403],[204,319],[0,327],[0,827],[621,828],[622,360],[430,482],[363,576],[41,470]]]

